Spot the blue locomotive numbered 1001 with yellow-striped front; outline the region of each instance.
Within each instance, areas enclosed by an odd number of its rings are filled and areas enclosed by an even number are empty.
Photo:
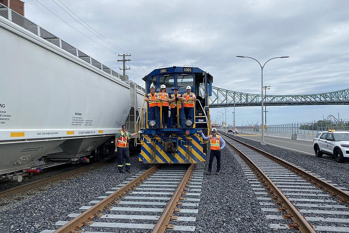
[[[149,105],[157,104],[161,109],[163,105],[167,104],[155,98],[154,93],[146,96],[154,100],[144,103],[138,121],[137,128],[143,131],[137,140],[137,144],[141,145],[139,161],[144,163],[200,163],[206,161],[207,141],[203,141],[197,131],[202,130],[207,133],[210,128],[208,103],[212,93],[213,77],[197,67],[173,66],[156,69],[143,80],[146,82],[149,94],[151,94],[150,87],[155,89],[157,94],[161,92],[160,87],[162,87],[165,89],[163,92],[168,93],[166,97],[171,98],[174,90],[178,89],[182,98],[170,102],[169,107],[164,107],[165,111],[159,110],[158,118],[160,119],[158,120],[151,118]],[[193,94],[196,99],[192,98]],[[173,119],[176,122],[174,124],[170,117],[170,107],[172,114],[173,111],[177,111],[177,119]],[[180,108],[184,107],[186,107],[186,114],[180,111]],[[167,121],[163,120],[163,118],[166,119],[162,116],[163,114],[168,115]],[[191,118],[188,119],[188,116]]]

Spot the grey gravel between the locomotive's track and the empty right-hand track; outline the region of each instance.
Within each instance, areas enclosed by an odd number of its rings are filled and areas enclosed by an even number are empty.
[[[195,232],[291,232],[274,230],[265,213],[261,211],[250,183],[228,146],[221,152],[220,175],[215,175],[216,159],[212,174],[204,175],[199,213]],[[209,151],[205,170],[208,170]]]

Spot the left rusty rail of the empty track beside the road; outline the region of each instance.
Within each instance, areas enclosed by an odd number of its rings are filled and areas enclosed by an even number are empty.
[[[268,194],[274,195],[275,205],[282,205],[281,208],[278,208],[279,211],[286,211],[287,214],[283,214],[284,219],[292,219],[293,223],[288,224],[290,228],[297,228],[302,233],[315,233],[313,227],[305,220],[305,218],[298,212],[296,207],[288,200],[288,198],[283,194],[283,192],[277,188],[272,180],[244,153],[242,153],[238,148],[233,146],[229,141],[226,143],[235,150],[239,156],[246,162],[246,164],[251,168],[253,173],[255,173],[258,180],[262,183],[265,183],[266,190],[270,190]]]

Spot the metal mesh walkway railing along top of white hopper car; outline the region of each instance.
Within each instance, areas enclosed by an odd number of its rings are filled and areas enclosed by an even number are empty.
[[[98,68],[99,70],[104,71],[105,73],[112,75],[113,77],[116,77],[120,79],[121,81],[127,83],[128,85],[135,86],[137,89],[141,90],[142,92],[145,92],[145,88],[139,86],[138,84],[134,83],[133,81],[128,80],[128,77],[124,77],[121,74],[117,73],[116,71],[112,70],[111,68],[107,67],[106,65],[102,64],[101,62],[97,61],[96,59],[88,56],[86,53],[80,51],[79,49],[75,48],[74,46],[68,44],[58,36],[53,35],[51,32],[43,29],[36,23],[33,23],[32,21],[28,20],[24,16],[18,14],[14,10],[8,8],[7,6],[0,3],[0,16],[3,18],[17,24],[18,26],[30,31],[31,33],[45,39],[46,41],[50,42],[53,45],[56,45],[57,47],[67,51],[68,53],[72,54],[75,57],[80,58],[81,60],[85,61],[86,63],[89,63],[90,65]]]

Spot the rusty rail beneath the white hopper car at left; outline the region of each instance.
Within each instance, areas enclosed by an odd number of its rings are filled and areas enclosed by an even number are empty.
[[[0,198],[12,196],[12,195],[17,194],[19,192],[28,191],[30,189],[37,188],[37,187],[39,187],[41,185],[45,185],[45,184],[48,184],[50,182],[66,178],[68,176],[72,176],[72,175],[76,175],[76,174],[81,173],[81,172],[88,171],[91,168],[95,168],[95,167],[99,167],[99,166],[104,165],[107,161],[108,160],[102,161],[102,162],[98,162],[98,163],[94,163],[94,164],[86,166],[86,167],[81,167],[81,168],[78,168],[78,169],[71,170],[69,172],[65,172],[65,173],[62,173],[62,174],[57,174],[57,175],[54,175],[54,176],[51,176],[51,177],[47,177],[45,179],[33,181],[33,182],[30,182],[30,183],[27,183],[27,184],[23,184],[23,185],[14,187],[14,188],[7,189],[5,191],[0,192]],[[61,165],[59,164],[57,166],[61,166]]]

